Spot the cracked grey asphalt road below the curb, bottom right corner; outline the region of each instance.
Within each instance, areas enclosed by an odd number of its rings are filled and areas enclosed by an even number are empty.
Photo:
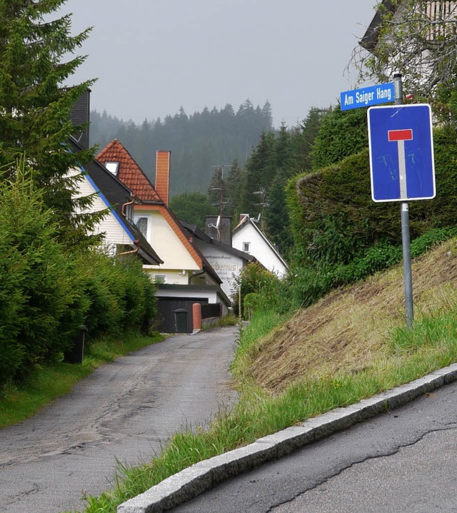
[[[220,484],[175,513],[457,512],[457,383]]]

